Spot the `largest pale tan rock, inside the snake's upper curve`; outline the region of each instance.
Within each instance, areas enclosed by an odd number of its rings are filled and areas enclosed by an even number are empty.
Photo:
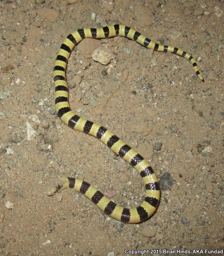
[[[95,61],[100,62],[102,65],[107,65],[110,60],[115,59],[115,55],[106,47],[98,47],[92,54]]]

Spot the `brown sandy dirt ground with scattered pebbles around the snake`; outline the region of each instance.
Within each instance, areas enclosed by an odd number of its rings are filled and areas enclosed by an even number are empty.
[[[223,11],[223,1],[205,0],[0,1],[0,255],[223,249]],[[71,54],[71,108],[123,138],[158,175],[160,205],[139,224],[113,220],[71,189],[45,193],[72,176],[126,207],[144,198],[134,169],[54,108],[63,38],[115,23],[189,52],[205,77],[184,58],[123,37],[85,39]],[[91,57],[99,46],[115,55],[108,65]],[[170,254],[144,255],[162,253]]]

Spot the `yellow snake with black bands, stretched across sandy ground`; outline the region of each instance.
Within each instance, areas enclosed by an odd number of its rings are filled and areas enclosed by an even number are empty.
[[[64,39],[59,49],[54,65],[55,108],[57,116],[72,129],[90,134],[101,140],[108,148],[131,164],[142,177],[145,183],[146,194],[144,200],[138,207],[126,208],[116,204],[100,190],[84,180],[73,177],[62,177],[61,183],[50,188],[47,191],[47,195],[53,196],[65,188],[72,188],[89,198],[101,211],[112,218],[125,223],[138,223],[149,218],[156,211],[160,201],[160,186],[153,168],[146,159],[128,146],[122,139],[118,138],[100,124],[78,116],[71,110],[69,105],[69,87],[66,80],[66,67],[71,51],[75,45],[84,38],[108,38],[114,36],[127,37],[146,48],[153,49],[153,51],[173,52],[190,60],[198,78],[202,82],[205,82],[198,70],[196,60],[189,53],[173,46],[157,44],[125,25],[116,24],[102,28],[81,28],[69,34]]]

